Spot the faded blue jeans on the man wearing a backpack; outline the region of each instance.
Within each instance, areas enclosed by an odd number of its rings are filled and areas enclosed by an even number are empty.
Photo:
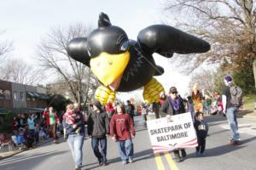
[[[230,107],[227,109],[227,119],[230,124],[230,128],[233,132],[232,140],[238,140],[240,139],[239,133],[238,133],[238,124],[236,120],[236,113],[238,111],[237,107]]]

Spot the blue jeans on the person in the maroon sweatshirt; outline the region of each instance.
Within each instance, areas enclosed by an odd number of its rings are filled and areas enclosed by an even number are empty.
[[[119,149],[119,156],[123,161],[127,161],[133,156],[133,144],[131,139],[127,140],[118,140],[116,142]]]

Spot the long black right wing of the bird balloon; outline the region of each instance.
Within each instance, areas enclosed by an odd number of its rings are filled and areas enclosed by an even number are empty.
[[[172,57],[173,53],[205,53],[211,48],[201,38],[165,25],[148,26],[139,32],[137,39],[143,52],[158,53],[167,58]]]

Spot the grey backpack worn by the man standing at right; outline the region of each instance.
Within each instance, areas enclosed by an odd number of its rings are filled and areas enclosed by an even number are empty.
[[[238,86],[230,87],[231,99],[230,103],[236,107],[240,107],[242,105],[242,90]]]

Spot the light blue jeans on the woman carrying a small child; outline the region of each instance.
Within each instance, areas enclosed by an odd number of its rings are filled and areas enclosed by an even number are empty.
[[[67,144],[71,150],[75,167],[82,167],[84,133],[68,134]]]

